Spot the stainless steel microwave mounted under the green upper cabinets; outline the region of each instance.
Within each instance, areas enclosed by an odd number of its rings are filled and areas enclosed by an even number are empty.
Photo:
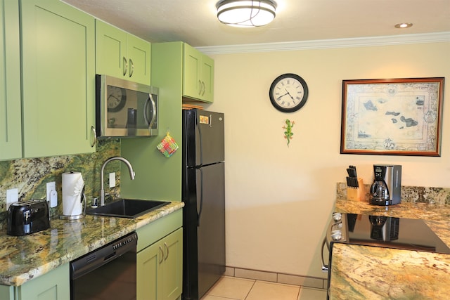
[[[97,74],[96,127],[98,137],[157,136],[158,88]]]

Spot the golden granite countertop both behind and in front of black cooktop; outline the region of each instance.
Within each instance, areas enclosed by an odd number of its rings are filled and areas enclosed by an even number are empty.
[[[448,204],[401,202],[380,207],[336,200],[335,211],[423,219],[450,247]],[[335,243],[330,299],[448,299],[449,278],[449,254]]]

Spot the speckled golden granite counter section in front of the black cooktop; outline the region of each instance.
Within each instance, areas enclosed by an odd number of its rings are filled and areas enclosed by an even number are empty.
[[[335,244],[330,299],[449,299],[450,255]]]

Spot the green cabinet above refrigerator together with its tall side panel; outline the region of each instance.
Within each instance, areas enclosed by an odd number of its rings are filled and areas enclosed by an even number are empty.
[[[151,84],[160,89],[160,134],[122,139],[121,154],[133,165],[136,178],[131,181],[128,176],[122,177],[120,191],[122,197],[148,199],[150,191],[153,199],[181,200],[182,100],[187,97],[212,102],[214,61],[181,41],[153,43],[151,71]],[[205,84],[201,98],[199,81]],[[186,93],[186,90],[192,91]],[[169,158],[156,149],[166,130],[179,145],[179,150]]]

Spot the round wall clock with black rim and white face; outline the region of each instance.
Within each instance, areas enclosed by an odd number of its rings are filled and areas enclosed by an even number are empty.
[[[297,74],[283,74],[272,82],[269,89],[270,102],[281,112],[300,110],[308,98],[306,81]]]

